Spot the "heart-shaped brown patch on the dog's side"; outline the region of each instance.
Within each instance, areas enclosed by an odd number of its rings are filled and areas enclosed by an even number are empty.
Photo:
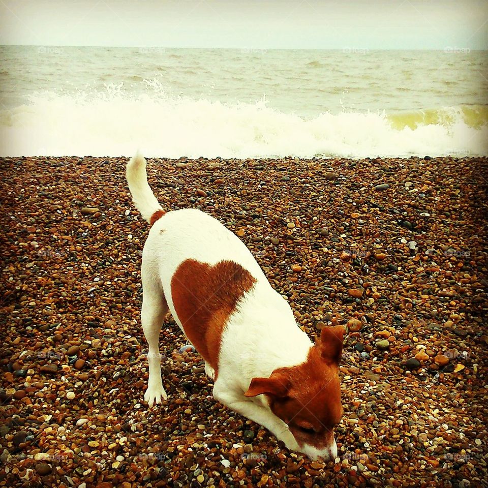
[[[194,259],[182,262],[171,279],[176,315],[216,378],[222,331],[237,302],[255,282],[248,270],[233,261],[210,266]]]

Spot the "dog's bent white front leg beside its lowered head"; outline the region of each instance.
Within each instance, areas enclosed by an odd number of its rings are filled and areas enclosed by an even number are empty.
[[[221,392],[214,388],[214,398],[223,403],[226,407],[234,410],[234,412],[253,420],[262,425],[269,432],[271,432],[278,440],[285,443],[288,449],[299,451],[300,448],[292,433],[288,429],[288,425],[277,417],[270,410],[260,405],[256,405],[252,400],[242,400],[229,391]]]

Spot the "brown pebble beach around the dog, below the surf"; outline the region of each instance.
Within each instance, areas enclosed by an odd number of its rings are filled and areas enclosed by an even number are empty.
[[[0,160],[0,486],[488,486],[488,158],[148,158],[163,208],[235,232],[310,337],[347,327],[327,463],[216,402],[169,315],[147,408],[127,161]]]

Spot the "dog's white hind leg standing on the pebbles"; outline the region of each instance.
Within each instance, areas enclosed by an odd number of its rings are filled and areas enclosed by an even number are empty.
[[[168,313],[168,304],[164,297],[161,283],[151,276],[151,270],[142,265],[142,310],[141,322],[144,337],[149,345],[149,380],[144,400],[152,407],[154,403],[166,400],[166,391],[161,380],[161,355],[159,352],[159,333],[164,317]]]

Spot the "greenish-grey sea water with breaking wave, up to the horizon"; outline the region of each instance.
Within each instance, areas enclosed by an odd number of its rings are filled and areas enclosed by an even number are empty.
[[[488,154],[488,52],[0,47],[0,156]]]

